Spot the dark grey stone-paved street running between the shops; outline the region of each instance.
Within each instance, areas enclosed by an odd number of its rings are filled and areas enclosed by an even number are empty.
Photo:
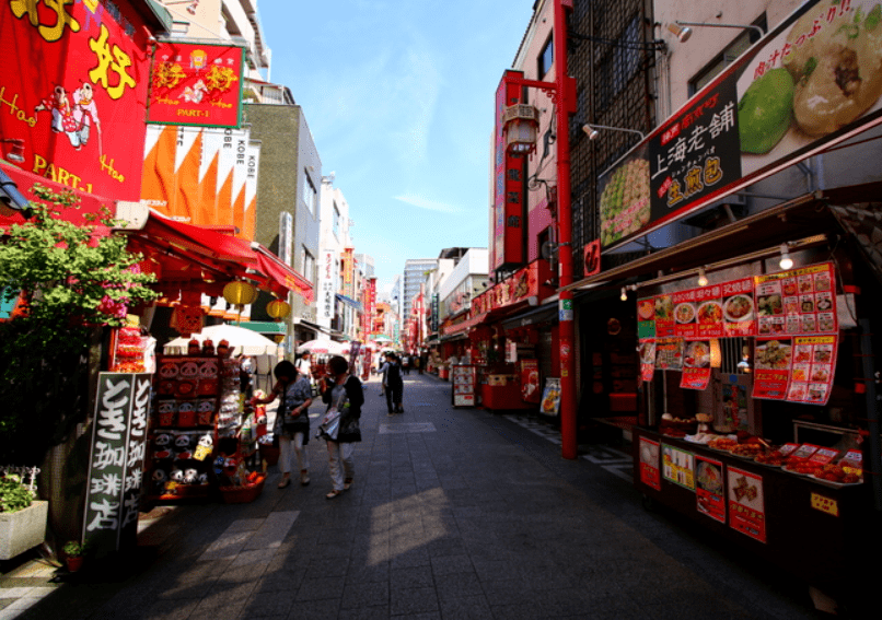
[[[311,486],[272,468],[251,504],[156,508],[115,572],[53,583],[25,562],[0,576],[0,620],[822,617],[804,585],[645,511],[627,446],[564,460],[547,424],[454,410],[429,375],[404,390],[388,417],[367,384],[341,496],[312,440]]]

